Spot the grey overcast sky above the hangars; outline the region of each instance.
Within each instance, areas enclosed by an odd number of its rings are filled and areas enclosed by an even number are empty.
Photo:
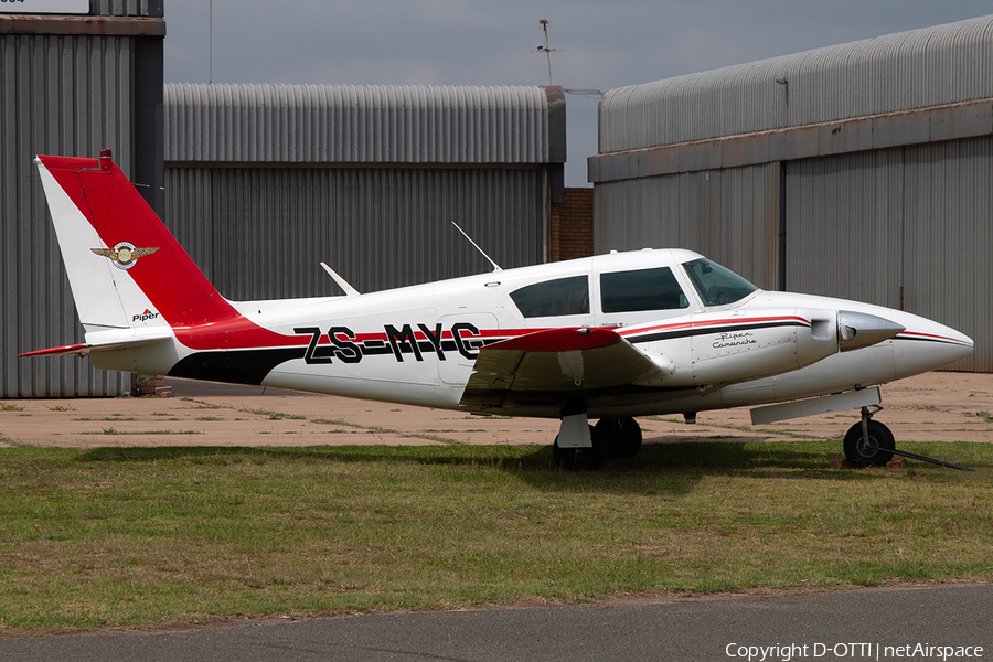
[[[989,0],[166,0],[166,82],[547,85],[532,53],[547,19],[565,49],[552,82],[606,92],[990,13]],[[566,185],[588,185],[596,106],[566,97]]]

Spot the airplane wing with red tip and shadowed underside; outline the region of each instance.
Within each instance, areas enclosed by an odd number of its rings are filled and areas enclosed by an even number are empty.
[[[660,376],[663,367],[610,329],[549,329],[482,348],[461,406],[483,410],[508,398],[566,399]]]

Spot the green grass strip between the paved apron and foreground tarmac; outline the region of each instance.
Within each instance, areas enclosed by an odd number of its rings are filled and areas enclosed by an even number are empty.
[[[993,580],[978,469],[833,445],[0,449],[0,636],[608,596]]]

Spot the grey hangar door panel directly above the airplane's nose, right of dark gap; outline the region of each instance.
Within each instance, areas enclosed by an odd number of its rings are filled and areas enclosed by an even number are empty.
[[[784,168],[786,289],[899,308],[901,150]]]

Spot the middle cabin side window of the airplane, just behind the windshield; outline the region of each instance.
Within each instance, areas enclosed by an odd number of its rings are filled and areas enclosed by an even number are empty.
[[[669,267],[600,274],[600,309],[604,312],[688,307],[690,300]]]

